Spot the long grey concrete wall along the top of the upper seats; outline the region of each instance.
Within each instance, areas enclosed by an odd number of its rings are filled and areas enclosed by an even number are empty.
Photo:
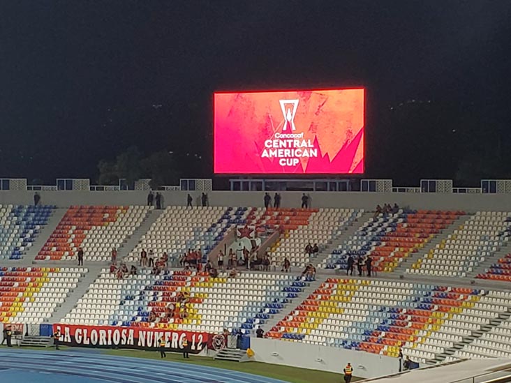
[[[186,206],[186,191],[165,191],[163,206]],[[40,191],[41,203],[59,207],[80,204],[145,204],[146,191]],[[511,195],[506,194],[435,194],[435,193],[361,193],[315,192],[308,193],[312,207],[348,207],[373,210],[376,204],[397,202],[399,206],[415,209],[443,209],[465,211],[510,211]],[[194,202],[200,192],[191,193]],[[208,193],[211,206],[263,206],[263,192],[213,191]],[[300,192],[281,192],[282,207],[301,204]],[[31,204],[34,193],[29,191],[0,191],[0,204]]]

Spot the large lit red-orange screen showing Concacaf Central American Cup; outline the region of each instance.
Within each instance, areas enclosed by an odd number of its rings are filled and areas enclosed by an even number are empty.
[[[361,174],[364,89],[214,94],[217,174]]]

